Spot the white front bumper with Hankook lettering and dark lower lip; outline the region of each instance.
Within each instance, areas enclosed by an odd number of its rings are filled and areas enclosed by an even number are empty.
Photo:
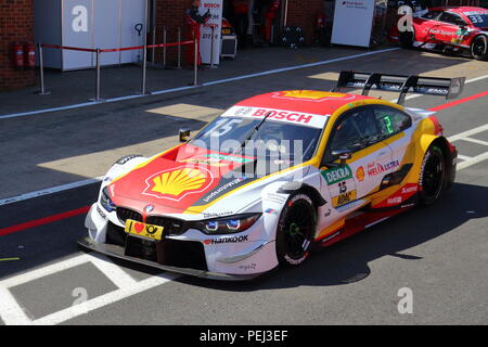
[[[85,221],[88,239],[79,243],[163,270],[218,280],[248,280],[278,266],[274,235],[269,234],[275,230],[277,217],[265,214],[245,232],[228,236],[211,236],[189,229],[151,242],[137,235],[128,236],[116,213],[105,213],[95,203]]]

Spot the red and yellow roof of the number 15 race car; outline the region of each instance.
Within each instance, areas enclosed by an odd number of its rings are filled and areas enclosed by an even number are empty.
[[[365,99],[374,100],[375,98],[319,90],[285,90],[256,95],[239,102],[235,106],[331,115],[341,106]]]

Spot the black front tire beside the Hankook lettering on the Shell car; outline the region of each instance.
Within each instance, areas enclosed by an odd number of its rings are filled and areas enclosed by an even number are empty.
[[[288,198],[277,230],[277,256],[281,265],[298,266],[308,258],[316,219],[316,207],[308,195],[296,193]]]

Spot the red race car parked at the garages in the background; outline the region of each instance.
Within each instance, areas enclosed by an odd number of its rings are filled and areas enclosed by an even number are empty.
[[[488,10],[474,7],[434,8],[412,18],[411,28],[399,18],[390,39],[402,48],[424,48],[488,60]]]

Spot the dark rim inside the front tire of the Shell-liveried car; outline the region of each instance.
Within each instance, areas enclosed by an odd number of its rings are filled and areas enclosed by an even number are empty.
[[[284,244],[292,259],[299,259],[306,254],[308,247],[304,245],[310,240],[312,220],[313,214],[305,202],[297,202],[290,210],[284,227]]]

